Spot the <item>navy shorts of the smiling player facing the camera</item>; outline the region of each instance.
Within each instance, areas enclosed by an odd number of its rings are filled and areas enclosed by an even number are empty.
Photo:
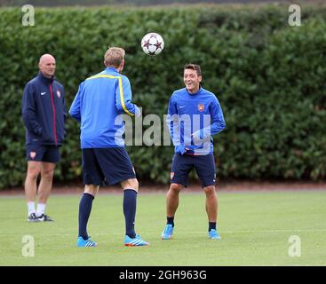
[[[171,169],[171,183],[187,187],[188,175],[194,168],[203,187],[215,185],[216,170],[213,154],[174,154]]]

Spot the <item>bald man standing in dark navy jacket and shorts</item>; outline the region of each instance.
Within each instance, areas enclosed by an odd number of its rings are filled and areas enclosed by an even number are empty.
[[[54,78],[55,59],[51,54],[44,54],[38,67],[38,75],[25,86],[21,106],[26,128],[25,193],[29,222],[52,221],[45,214],[45,204],[52,189],[55,165],[60,161],[59,147],[64,140],[67,116],[63,86]],[[36,209],[36,181],[40,173]]]

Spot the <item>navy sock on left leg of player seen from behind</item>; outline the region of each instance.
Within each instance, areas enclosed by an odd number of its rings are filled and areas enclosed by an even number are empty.
[[[90,193],[83,193],[82,199],[79,202],[78,236],[83,237],[83,240],[88,239],[86,227],[87,227],[88,218],[91,215],[91,204],[93,200],[94,200],[94,196],[92,196]]]

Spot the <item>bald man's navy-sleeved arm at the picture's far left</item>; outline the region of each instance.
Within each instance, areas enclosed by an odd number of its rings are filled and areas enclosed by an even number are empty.
[[[25,86],[23,92],[21,116],[25,127],[29,132],[37,136],[42,135],[42,127],[36,120],[36,102],[34,98],[33,86],[30,83]]]

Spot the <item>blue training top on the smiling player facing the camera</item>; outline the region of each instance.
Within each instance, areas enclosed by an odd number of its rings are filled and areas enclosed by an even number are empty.
[[[226,127],[219,99],[202,87],[195,94],[186,88],[174,91],[166,122],[179,154],[212,154],[212,136]]]

